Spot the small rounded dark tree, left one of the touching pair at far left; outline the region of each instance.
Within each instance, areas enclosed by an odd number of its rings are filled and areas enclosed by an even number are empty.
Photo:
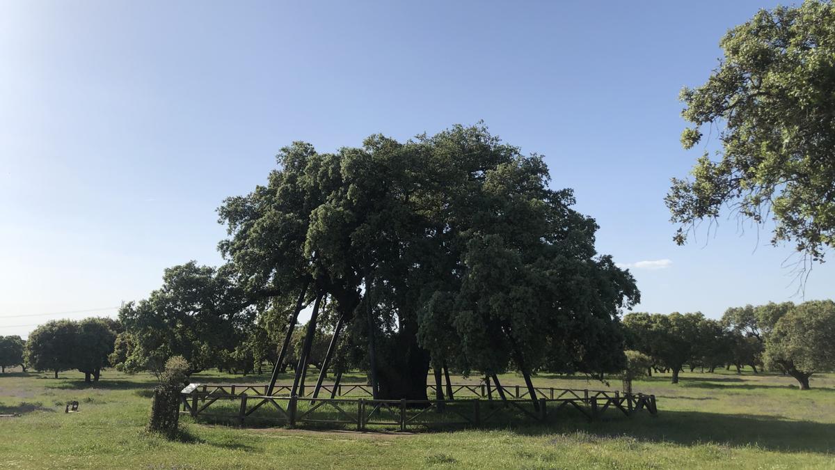
[[[75,351],[78,324],[67,320],[53,320],[41,324],[26,341],[26,362],[35,370],[52,370],[55,378],[61,370],[76,366]]]

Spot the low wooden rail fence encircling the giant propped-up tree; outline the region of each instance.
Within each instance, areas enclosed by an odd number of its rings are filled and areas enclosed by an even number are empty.
[[[343,393],[349,389],[349,393],[367,392],[364,385],[346,384],[342,387]],[[540,396],[534,405],[534,400],[516,392],[515,386],[503,387],[508,396],[505,400],[489,396],[485,400],[479,396],[478,386],[460,387],[458,391],[471,391],[471,396],[457,400],[373,400],[348,396],[314,400],[304,396],[267,396],[260,393],[264,390],[262,386],[235,385],[190,386],[187,392],[181,393],[181,399],[182,412],[195,419],[202,416],[239,425],[260,420],[271,425],[347,427],[357,431],[366,431],[369,427],[407,431],[431,427],[544,422],[563,409],[576,411],[590,421],[600,418],[607,410],[620,411],[625,416],[640,411],[652,416],[658,413],[655,396],[640,393],[539,388],[535,391],[544,397]]]

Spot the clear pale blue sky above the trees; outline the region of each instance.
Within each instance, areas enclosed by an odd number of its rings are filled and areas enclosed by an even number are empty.
[[[0,3],[0,335],[114,314],[165,267],[220,263],[215,208],[292,140],[478,120],[575,189],[638,309],[798,300],[768,232],[723,219],[677,247],[663,203],[700,153],[679,144],[679,89],[775,4]],[[833,281],[815,267],[806,299]]]

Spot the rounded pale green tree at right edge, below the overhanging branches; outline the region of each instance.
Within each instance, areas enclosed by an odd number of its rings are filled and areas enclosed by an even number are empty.
[[[815,300],[783,315],[766,340],[766,361],[809,389],[815,372],[835,370],[835,303]]]

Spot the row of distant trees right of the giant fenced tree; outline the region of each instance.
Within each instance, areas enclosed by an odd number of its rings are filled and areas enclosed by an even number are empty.
[[[835,303],[766,304],[727,309],[721,320],[693,314],[626,314],[627,347],[650,358],[647,374],[701,367],[750,366],[794,377],[808,390],[809,377],[835,370]]]

